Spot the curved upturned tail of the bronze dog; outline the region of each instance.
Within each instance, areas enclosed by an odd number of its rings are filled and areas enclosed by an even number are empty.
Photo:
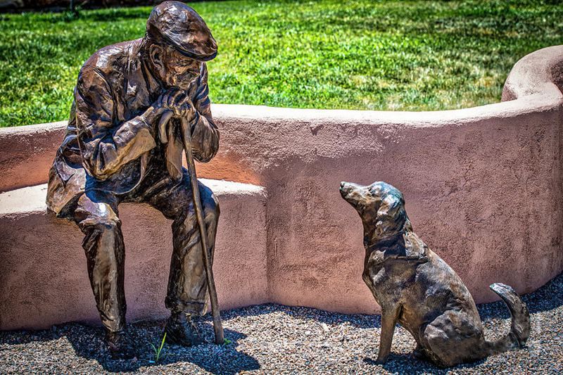
[[[495,283],[490,288],[505,301],[512,316],[512,326],[510,327],[510,332],[505,337],[487,342],[489,354],[523,347],[530,336],[530,313],[528,307],[526,307],[520,296],[510,286]]]

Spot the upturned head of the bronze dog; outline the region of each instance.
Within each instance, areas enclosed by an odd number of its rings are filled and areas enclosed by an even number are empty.
[[[340,193],[350,203],[364,224],[364,231],[374,239],[398,234],[410,222],[405,211],[403,193],[386,182],[368,186],[341,182]]]

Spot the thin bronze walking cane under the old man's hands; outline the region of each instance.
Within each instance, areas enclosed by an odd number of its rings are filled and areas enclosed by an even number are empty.
[[[191,193],[194,198],[194,208],[196,209],[196,217],[198,220],[199,236],[201,237],[201,248],[203,249],[203,265],[205,265],[205,276],[207,277],[207,285],[209,288],[209,299],[211,300],[211,314],[213,314],[213,329],[215,330],[215,343],[224,343],[223,326],[221,324],[221,312],[217,303],[217,291],[215,290],[215,280],[213,279],[213,269],[211,268],[209,248],[207,246],[207,231],[205,230],[205,222],[203,222],[203,208],[201,208],[201,198],[199,197],[198,179],[196,175],[196,165],[194,163],[194,155],[191,154],[191,131],[189,123],[182,118],[182,141],[184,142],[184,151],[188,160],[189,179],[191,182]]]

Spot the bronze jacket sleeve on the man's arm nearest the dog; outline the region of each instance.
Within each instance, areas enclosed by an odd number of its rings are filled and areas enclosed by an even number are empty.
[[[191,149],[194,158],[207,163],[219,149],[219,129],[211,116],[211,101],[207,84],[207,67],[202,64],[202,73],[194,99],[196,117],[191,125]]]

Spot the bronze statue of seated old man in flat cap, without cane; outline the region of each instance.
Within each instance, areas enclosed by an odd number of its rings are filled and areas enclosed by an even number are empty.
[[[91,288],[114,357],[135,355],[125,325],[122,202],[148,203],[174,220],[165,331],[181,345],[201,342],[192,320],[207,310],[208,288],[180,123],[189,124],[194,158],[213,158],[219,131],[205,62],[216,54],[196,11],[165,1],[151,12],[143,38],[100,49],[80,70],[47,205],[84,232]],[[219,206],[208,187],[198,186],[213,255]]]

